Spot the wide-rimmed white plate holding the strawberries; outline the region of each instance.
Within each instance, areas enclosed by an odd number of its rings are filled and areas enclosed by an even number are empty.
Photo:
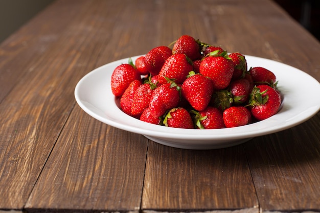
[[[132,57],[134,61],[138,56]],[[269,119],[246,126],[198,130],[178,129],[139,121],[119,109],[111,92],[113,69],[122,59],[96,68],[84,76],[75,88],[79,106],[95,119],[126,131],[142,134],[166,146],[182,149],[218,149],[235,146],[265,134],[279,132],[310,119],[320,109],[320,84],[292,66],[269,59],[246,56],[248,67],[262,66],[275,73],[284,100],[280,111]],[[312,89],[312,92],[310,92]]]

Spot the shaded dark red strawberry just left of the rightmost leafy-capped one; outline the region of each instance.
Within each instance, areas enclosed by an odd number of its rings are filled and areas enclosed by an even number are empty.
[[[233,102],[243,104],[249,98],[250,83],[246,79],[237,79],[230,83],[230,92],[233,94]]]

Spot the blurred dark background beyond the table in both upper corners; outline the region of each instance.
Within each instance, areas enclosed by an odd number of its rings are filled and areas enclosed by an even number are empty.
[[[54,1],[0,0],[0,43]],[[320,0],[271,1],[280,5],[291,17],[320,40]]]

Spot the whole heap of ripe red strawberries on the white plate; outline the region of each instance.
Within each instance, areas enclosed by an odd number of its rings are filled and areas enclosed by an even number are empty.
[[[172,46],[172,45],[171,45]],[[175,128],[243,126],[276,114],[281,104],[276,76],[247,68],[245,56],[228,54],[182,35],[169,46],[121,64],[111,76],[112,93],[126,114]]]

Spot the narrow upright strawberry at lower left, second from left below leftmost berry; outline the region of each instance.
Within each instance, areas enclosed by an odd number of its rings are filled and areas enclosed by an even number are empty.
[[[131,114],[140,115],[149,106],[155,88],[156,85],[149,80],[135,90],[132,98]]]

